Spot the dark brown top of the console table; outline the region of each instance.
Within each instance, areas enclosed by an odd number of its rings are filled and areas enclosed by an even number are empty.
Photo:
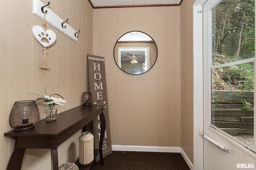
[[[4,133],[4,135],[14,137],[58,137],[79,123],[83,122],[83,125],[90,123],[92,119],[102,113],[102,107],[102,105],[81,105],[58,113],[56,121],[48,122],[42,119],[31,130],[23,132],[12,130]]]

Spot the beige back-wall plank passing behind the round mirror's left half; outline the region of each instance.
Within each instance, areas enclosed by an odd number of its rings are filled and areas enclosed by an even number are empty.
[[[130,31],[130,9],[117,9],[118,35]],[[120,31],[122,30],[122,31]],[[120,37],[119,36],[119,37]],[[130,74],[118,69],[117,73],[117,113],[118,145],[131,145],[131,86]]]

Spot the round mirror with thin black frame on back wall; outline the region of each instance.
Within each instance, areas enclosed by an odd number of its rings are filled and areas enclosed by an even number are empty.
[[[143,74],[156,63],[155,41],[141,31],[122,35],[114,47],[114,59],[118,67],[128,74]]]

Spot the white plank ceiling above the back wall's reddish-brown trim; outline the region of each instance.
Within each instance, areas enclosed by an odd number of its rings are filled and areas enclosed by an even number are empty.
[[[182,0],[89,0],[93,8],[179,6]]]

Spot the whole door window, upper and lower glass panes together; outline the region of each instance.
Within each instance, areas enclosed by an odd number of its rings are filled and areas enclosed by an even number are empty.
[[[211,55],[211,123],[252,148],[254,63],[221,64],[254,57],[254,14],[254,0],[222,0],[212,9]]]

